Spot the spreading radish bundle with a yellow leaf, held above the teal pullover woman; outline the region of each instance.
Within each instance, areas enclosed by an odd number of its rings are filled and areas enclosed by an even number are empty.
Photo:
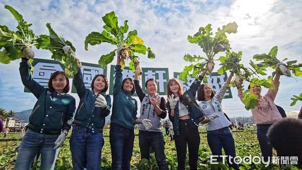
[[[134,72],[135,66],[134,62],[139,60],[139,57],[134,55],[134,53],[146,54],[148,53],[148,58],[155,58],[155,54],[151,51],[150,47],[146,48],[143,45],[143,40],[137,36],[137,31],[129,31],[129,26],[127,25],[127,20],[124,21],[124,26],[118,26],[118,18],[115,16],[115,13],[112,11],[102,17],[105,25],[102,33],[92,32],[85,39],[85,49],[88,50],[88,44],[96,45],[101,43],[109,43],[116,45],[118,49],[114,49],[109,54],[102,55],[99,59],[100,66],[104,69],[107,67],[107,64],[111,63],[115,51],[117,55],[121,55],[122,69],[125,67],[125,61],[129,62],[129,68]],[[124,36],[124,34],[127,36]]]

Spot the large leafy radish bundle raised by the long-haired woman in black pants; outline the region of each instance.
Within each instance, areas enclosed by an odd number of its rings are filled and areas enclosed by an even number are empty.
[[[185,66],[183,71],[180,73],[179,78],[183,81],[188,81],[190,72],[192,72],[193,77],[197,78],[199,72],[206,69],[211,73],[214,69],[214,56],[219,52],[230,51],[230,43],[226,38],[225,33],[237,33],[238,25],[234,23],[229,23],[226,26],[222,26],[222,29],[218,28],[215,36],[213,37],[211,24],[206,27],[200,27],[199,31],[193,36],[188,35],[188,41],[190,43],[197,44],[201,47],[202,51],[205,53],[205,57],[200,55],[185,54],[184,60],[189,62],[197,62],[196,64],[191,64]],[[205,61],[200,61],[205,60]]]

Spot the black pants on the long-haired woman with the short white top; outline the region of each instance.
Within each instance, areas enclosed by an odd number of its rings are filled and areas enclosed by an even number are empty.
[[[178,169],[185,169],[187,145],[189,150],[190,169],[197,169],[200,136],[198,127],[191,125],[189,119],[179,120],[179,136],[175,135]]]

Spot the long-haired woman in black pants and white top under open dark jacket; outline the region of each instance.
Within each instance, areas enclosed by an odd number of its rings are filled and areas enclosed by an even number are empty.
[[[200,73],[185,93],[178,79],[171,78],[167,82],[167,108],[173,123],[178,169],[185,169],[187,146],[190,169],[197,169],[200,144],[198,124],[204,119],[204,113],[198,107],[195,96],[205,72]]]

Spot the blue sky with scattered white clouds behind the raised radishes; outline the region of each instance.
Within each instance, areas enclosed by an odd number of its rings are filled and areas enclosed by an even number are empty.
[[[230,22],[239,25],[236,34],[228,35],[234,51],[243,51],[244,64],[254,54],[267,53],[278,46],[277,57],[302,62],[302,3],[297,1],[3,1],[0,0],[0,23],[15,30],[17,23],[10,12],[4,9],[10,5],[32,23],[36,35],[48,34],[45,26],[51,23],[66,40],[73,43],[77,56],[83,62],[97,63],[102,54],[113,50],[112,45],[90,46],[84,49],[85,37],[92,31],[101,32],[102,16],[115,11],[119,23],[128,20],[130,29],[136,29],[146,46],[152,47],[157,58],[141,57],[142,67],[168,67],[170,77],[180,72],[189,63],[183,60],[185,53],[203,55],[200,47],[187,41],[199,27],[212,24],[213,30]],[[50,59],[50,52],[36,50],[36,57]],[[216,55],[219,57],[223,54]],[[173,60],[173,62],[171,62]],[[23,92],[19,75],[20,60],[0,64],[0,107],[5,110],[23,111],[32,109],[36,99]],[[116,60],[112,63],[114,64]],[[163,66],[164,63],[164,66]],[[214,71],[219,67],[214,68]],[[264,77],[263,77],[264,78]],[[294,79],[295,78],[295,79]],[[281,77],[280,90],[275,103],[286,111],[299,110],[301,102],[290,107],[292,95],[302,91],[302,78]],[[266,90],[263,90],[264,95]],[[232,89],[233,99],[222,102],[224,112],[230,117],[251,116]],[[73,95],[79,99],[77,95]]]

